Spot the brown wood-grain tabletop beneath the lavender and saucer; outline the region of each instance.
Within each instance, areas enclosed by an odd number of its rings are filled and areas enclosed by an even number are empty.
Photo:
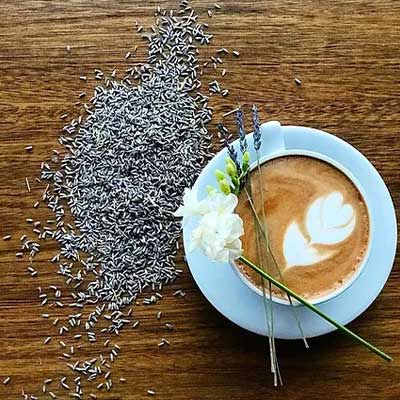
[[[161,2],[171,7],[174,1]],[[214,33],[202,58],[221,46],[237,49],[224,85],[227,98],[213,97],[215,118],[240,102],[262,105],[263,119],[325,129],[361,150],[382,174],[395,204],[400,202],[400,2],[395,0],[197,1],[203,21]],[[16,259],[19,238],[29,232],[25,219],[45,219],[49,212],[32,205],[41,186],[34,181],[42,160],[56,148],[63,122],[76,114],[82,90],[92,90],[93,69],[110,73],[143,61],[146,44],[135,21],[154,22],[158,2],[123,0],[2,0],[0,3],[0,398],[20,398],[21,389],[41,396],[43,380],[71,376],[61,355],[52,321],[43,319],[37,287],[63,287],[49,263],[56,246],[46,245],[37,258],[39,275],[26,273],[27,260]],[[66,46],[71,46],[68,54]],[[128,50],[138,45],[132,60]],[[79,80],[87,75],[88,82]],[[206,74],[204,79],[210,79]],[[298,77],[302,85],[295,84]],[[25,146],[33,145],[32,153]],[[25,177],[32,186],[27,193]],[[182,255],[179,265],[184,266]],[[379,266],[377,266],[378,268]],[[183,288],[186,298],[172,294]],[[391,399],[400,398],[400,265],[396,260],[382,294],[350,324],[394,357],[385,363],[349,339],[334,333],[300,342],[279,341],[285,385],[275,389],[267,372],[265,338],[245,332],[221,316],[185,273],[165,290],[154,307],[135,309],[141,324],[117,340],[121,356],[113,366],[114,388],[99,399],[144,399],[147,390],[167,400],[189,399]],[[351,305],[349,305],[351,307]],[[162,319],[156,319],[161,310]],[[163,324],[175,325],[166,332]],[[171,345],[158,348],[161,337]],[[102,340],[100,340],[102,339]],[[99,336],[103,343],[105,337]],[[69,343],[71,339],[67,340]],[[102,346],[102,344],[100,344]],[[99,348],[83,342],[80,357]],[[119,378],[126,383],[119,383]],[[53,382],[58,398],[68,398]],[[87,394],[89,391],[86,392]],[[98,393],[95,391],[95,393]],[[85,397],[86,398],[86,397]]]

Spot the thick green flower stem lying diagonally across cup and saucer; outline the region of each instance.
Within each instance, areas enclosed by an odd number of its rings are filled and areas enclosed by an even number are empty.
[[[338,328],[341,332],[345,333],[347,336],[350,336],[352,339],[354,339],[356,342],[359,344],[363,345],[373,353],[377,354],[379,357],[383,358],[386,361],[392,361],[392,357],[384,353],[382,350],[378,349],[371,343],[367,342],[365,339],[363,339],[361,336],[358,336],[356,333],[352,332],[350,329],[346,328],[344,325],[336,322],[334,319],[326,315],[324,312],[322,312],[319,308],[315,307],[313,304],[309,303],[306,299],[298,295],[296,292],[293,290],[289,289],[287,286],[285,286],[283,283],[279,282],[266,272],[264,272],[261,268],[257,267],[257,265],[253,264],[251,261],[249,261],[246,257],[241,256],[239,260],[246,264],[248,267],[253,269],[255,272],[260,274],[262,277],[267,279],[269,282],[271,282],[273,285],[278,287],[279,289],[283,290],[290,296],[292,296],[294,299],[296,299],[299,303],[303,304],[306,306],[309,310],[313,311],[317,315],[319,315],[321,318],[323,318],[325,321],[328,321],[331,323],[333,326]]]

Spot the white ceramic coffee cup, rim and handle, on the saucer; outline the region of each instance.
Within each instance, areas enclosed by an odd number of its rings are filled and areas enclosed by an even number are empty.
[[[267,122],[263,125],[261,125],[261,132],[262,132],[262,146],[265,146],[268,148],[268,154],[260,159],[260,163],[263,164],[267,161],[270,161],[274,158],[282,157],[282,156],[291,156],[291,155],[299,155],[299,156],[307,156],[307,157],[312,157],[316,158],[318,160],[324,161],[335,168],[337,168],[339,171],[341,171],[343,174],[345,174],[350,181],[354,184],[354,186],[358,189],[360,192],[361,196],[364,199],[364,203],[366,204],[368,214],[369,214],[369,241],[368,241],[368,247],[365,251],[364,258],[359,265],[358,269],[354,274],[343,283],[342,286],[337,288],[336,290],[330,292],[329,294],[317,298],[313,298],[309,300],[310,303],[312,304],[320,304],[323,302],[326,302],[328,300],[333,299],[334,297],[339,296],[341,293],[343,293],[345,290],[347,290],[356,280],[357,278],[361,275],[364,266],[366,265],[366,262],[368,260],[368,256],[371,250],[371,243],[373,241],[373,234],[374,234],[374,227],[371,219],[371,215],[369,212],[369,206],[366,201],[366,196],[365,196],[365,190],[361,186],[361,184],[357,181],[357,179],[351,174],[350,171],[348,171],[343,165],[338,163],[337,161],[333,160],[332,158],[327,157],[324,154],[310,151],[310,150],[287,150],[285,147],[285,140],[284,136],[282,134],[282,129],[281,125],[277,121],[270,121]],[[254,168],[257,167],[257,163],[253,162],[250,166],[250,170],[254,170]],[[262,290],[256,286],[253,282],[251,282],[241,271],[240,268],[237,265],[232,265],[234,271],[237,273],[239,278],[242,280],[242,282],[249,287],[252,291],[257,293],[259,296],[263,296]],[[283,304],[283,305],[290,305],[289,300],[283,299],[281,297],[277,296],[272,296],[272,300],[276,303]],[[293,304],[300,304],[296,300],[292,299]]]

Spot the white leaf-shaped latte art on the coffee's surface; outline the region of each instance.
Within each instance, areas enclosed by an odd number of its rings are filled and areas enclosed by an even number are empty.
[[[321,251],[315,245],[336,245],[353,232],[355,212],[350,204],[343,202],[340,192],[332,192],[310,205],[305,220],[309,239],[297,222],[289,225],[283,241],[286,267],[312,265],[335,254],[335,250]]]

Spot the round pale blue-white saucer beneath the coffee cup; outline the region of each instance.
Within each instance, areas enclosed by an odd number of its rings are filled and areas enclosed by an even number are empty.
[[[347,324],[376,299],[393,266],[397,228],[390,193],[374,166],[347,142],[311,128],[283,126],[282,130],[287,149],[311,150],[325,154],[351,171],[365,189],[370,217],[376,226],[367,264],[347,290],[318,306],[338,322]],[[252,135],[248,135],[248,141],[251,149]],[[237,142],[234,145],[238,148]],[[261,156],[266,156],[269,152],[267,146],[261,148]],[[226,156],[226,149],[219,152],[198,177],[195,187],[200,199],[206,196],[207,185],[216,186],[214,172],[217,168],[224,169]],[[188,248],[195,226],[194,219],[184,225],[185,249]],[[218,311],[244,329],[267,335],[262,297],[248,288],[229,264],[213,263],[200,251],[186,252],[186,258],[200,290]],[[336,329],[303,306],[298,306],[297,310],[306,337],[323,335]],[[289,306],[274,304],[274,331],[277,338],[301,338]]]

